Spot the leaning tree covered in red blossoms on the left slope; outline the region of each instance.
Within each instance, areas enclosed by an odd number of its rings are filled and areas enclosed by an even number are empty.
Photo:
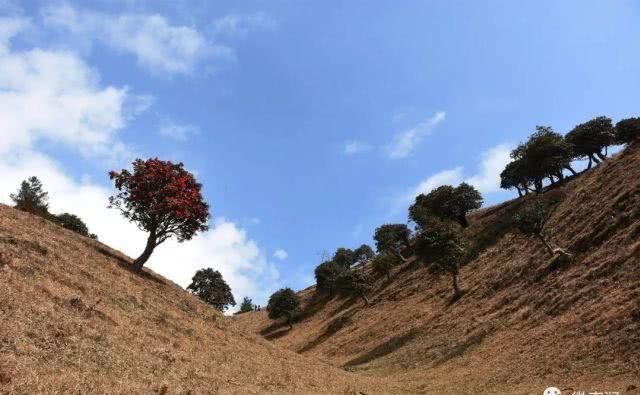
[[[109,198],[109,207],[149,233],[144,252],[133,262],[136,270],[169,238],[183,242],[208,229],[209,206],[202,198],[202,185],[182,163],[136,159],[133,173],[111,171],[109,178],[119,191]]]

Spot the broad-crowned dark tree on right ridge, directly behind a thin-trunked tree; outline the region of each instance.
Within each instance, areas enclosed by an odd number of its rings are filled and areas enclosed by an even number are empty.
[[[409,207],[409,219],[421,229],[432,216],[440,219],[458,221],[468,226],[467,213],[482,206],[482,195],[466,182],[457,187],[442,185],[428,194],[416,196],[415,203]]]

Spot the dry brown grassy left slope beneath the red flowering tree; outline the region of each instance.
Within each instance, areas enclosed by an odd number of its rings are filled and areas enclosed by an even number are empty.
[[[130,262],[0,205],[0,393],[400,391],[238,333]]]

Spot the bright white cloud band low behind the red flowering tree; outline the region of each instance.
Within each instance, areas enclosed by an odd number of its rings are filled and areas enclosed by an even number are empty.
[[[38,176],[49,192],[52,212],[66,211],[80,216],[101,242],[131,257],[142,252],[146,234],[119,212],[107,208],[112,192],[109,188],[90,181],[75,181],[65,175],[58,163],[37,152],[16,150],[0,157],[0,202],[11,204],[9,194],[32,175]],[[198,269],[214,268],[229,283],[237,301],[243,296],[266,300],[278,288],[280,279],[278,269],[266,259],[256,242],[224,218],[191,241],[167,241],[157,248],[147,265],[183,287]]]

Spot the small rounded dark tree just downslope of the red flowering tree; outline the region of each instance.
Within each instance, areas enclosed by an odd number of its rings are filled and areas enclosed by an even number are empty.
[[[222,274],[211,268],[198,270],[187,290],[221,312],[226,311],[229,305],[236,305],[231,288]]]

